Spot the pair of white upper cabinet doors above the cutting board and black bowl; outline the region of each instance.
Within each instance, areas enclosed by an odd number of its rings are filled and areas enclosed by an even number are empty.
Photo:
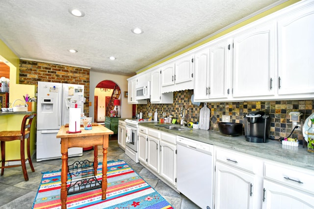
[[[214,101],[228,98],[232,79],[229,66],[232,49],[227,39],[210,42],[195,52],[194,100]],[[230,72],[231,71],[231,72]]]

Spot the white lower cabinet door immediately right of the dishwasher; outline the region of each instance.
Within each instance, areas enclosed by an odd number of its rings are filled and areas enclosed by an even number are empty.
[[[215,208],[253,209],[253,182],[253,175],[216,162]]]

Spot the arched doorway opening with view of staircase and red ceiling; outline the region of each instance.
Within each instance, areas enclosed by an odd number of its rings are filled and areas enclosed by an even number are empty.
[[[115,99],[120,100],[121,90],[117,83],[111,80],[99,82],[94,90],[94,122],[105,122],[105,116],[109,116],[110,110],[115,108],[118,115],[121,113],[120,106],[114,106]],[[121,105],[121,104],[120,104]]]

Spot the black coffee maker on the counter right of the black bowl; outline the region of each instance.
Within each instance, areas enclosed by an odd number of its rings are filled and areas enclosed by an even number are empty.
[[[270,119],[270,116],[263,111],[252,111],[245,115],[245,140],[256,143],[267,142],[270,131]]]

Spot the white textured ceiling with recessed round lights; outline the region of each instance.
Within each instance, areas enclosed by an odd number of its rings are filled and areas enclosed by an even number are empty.
[[[2,0],[0,39],[20,58],[131,76],[277,1]]]

